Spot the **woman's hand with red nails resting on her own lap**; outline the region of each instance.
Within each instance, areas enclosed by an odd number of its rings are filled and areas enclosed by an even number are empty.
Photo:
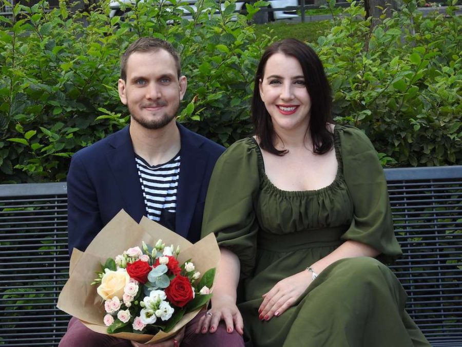
[[[273,316],[282,315],[303,294],[312,282],[311,273],[308,271],[298,272],[295,275],[284,278],[263,294],[263,302],[258,309],[260,320],[270,320]]]

